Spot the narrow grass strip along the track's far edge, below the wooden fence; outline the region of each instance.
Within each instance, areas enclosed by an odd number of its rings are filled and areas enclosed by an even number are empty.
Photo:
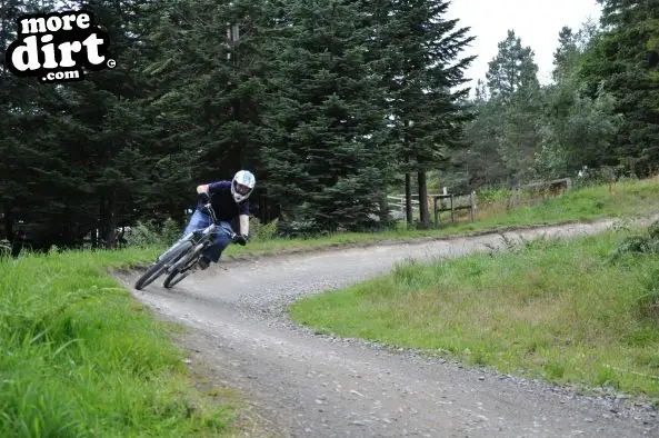
[[[338,232],[308,239],[253,240],[246,247],[229,246],[227,256],[277,253],[282,250],[304,250],[368,243],[383,240],[407,240],[449,237],[501,228],[528,227],[542,223],[591,221],[602,218],[639,217],[659,211],[659,179],[626,181],[616,185],[613,195],[609,187],[596,186],[572,190],[560,197],[549,198],[537,205],[507,210],[505,206],[483,206],[477,221],[462,219],[432,230],[391,230],[382,232]],[[431,213],[432,215],[432,213]]]

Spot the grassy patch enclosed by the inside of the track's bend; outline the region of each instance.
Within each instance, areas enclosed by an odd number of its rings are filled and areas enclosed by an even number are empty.
[[[319,332],[659,400],[659,258],[609,262],[623,236],[402,263],[289,310]]]

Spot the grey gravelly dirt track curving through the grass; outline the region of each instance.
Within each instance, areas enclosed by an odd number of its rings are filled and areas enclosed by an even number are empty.
[[[548,227],[509,236],[575,236],[611,225]],[[282,312],[299,296],[390,270],[409,257],[457,257],[497,235],[232,262],[170,291],[120,279],[163,316],[193,328],[192,362],[238,386],[277,437],[636,437],[659,436],[649,406],[581,397],[539,381],[462,367],[360,340],[314,336]]]

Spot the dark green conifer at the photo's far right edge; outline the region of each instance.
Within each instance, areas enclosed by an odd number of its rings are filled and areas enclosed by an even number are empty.
[[[639,176],[659,161],[659,78],[652,67],[659,3],[639,0],[598,0],[603,31],[586,54],[582,78],[595,97],[603,90],[616,99],[625,122],[617,136],[610,165],[623,165]]]

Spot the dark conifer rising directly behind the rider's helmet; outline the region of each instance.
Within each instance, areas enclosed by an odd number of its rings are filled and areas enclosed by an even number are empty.
[[[272,2],[192,0],[158,7],[149,36],[157,50],[147,68],[157,91],[148,107],[161,128],[162,153],[186,169],[172,173],[171,182],[189,199],[198,183],[230,179],[241,168],[260,169],[258,128],[264,78],[271,73],[261,50],[270,8]],[[257,180],[261,191],[262,172]]]

